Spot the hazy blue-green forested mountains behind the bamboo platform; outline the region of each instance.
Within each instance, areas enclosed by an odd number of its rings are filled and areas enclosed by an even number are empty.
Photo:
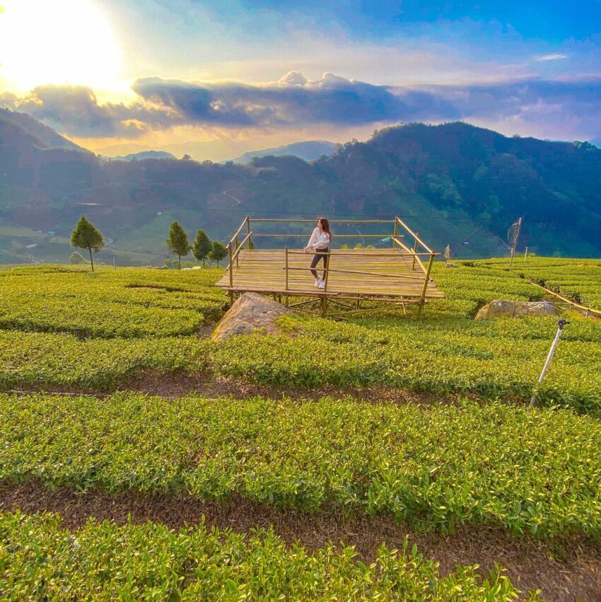
[[[28,233],[16,226],[55,232],[36,242],[35,257],[66,260],[61,237],[81,213],[112,239],[105,253],[121,253],[124,262],[158,262],[173,219],[189,233],[204,228],[225,240],[246,214],[301,213],[397,214],[434,248],[450,244],[461,257],[506,253],[501,239],[522,215],[520,248],[601,255],[601,150],[587,143],[507,138],[463,123],[413,124],[312,163],[264,156],[247,166],[105,163],[50,146],[32,129],[0,120],[0,260],[26,253]]]

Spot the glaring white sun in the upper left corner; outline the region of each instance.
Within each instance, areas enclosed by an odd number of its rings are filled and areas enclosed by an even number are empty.
[[[119,45],[93,0],[0,0],[0,79],[12,91],[45,83],[107,87]]]

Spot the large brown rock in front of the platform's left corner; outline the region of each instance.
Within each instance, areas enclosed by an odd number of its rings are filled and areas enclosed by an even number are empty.
[[[290,333],[300,329],[295,318],[281,320],[282,316],[294,316],[281,303],[272,301],[258,293],[245,293],[221,318],[213,332],[214,340],[221,341],[232,335],[247,335],[254,330],[269,335]]]

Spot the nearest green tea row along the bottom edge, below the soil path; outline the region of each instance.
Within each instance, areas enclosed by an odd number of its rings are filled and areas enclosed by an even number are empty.
[[[59,516],[0,514],[0,584],[11,600],[428,600],[499,602],[518,597],[495,567],[487,579],[458,566],[440,577],[407,540],[375,562],[333,545],[308,553],[273,531],[124,526],[90,521],[75,533]],[[427,592],[427,594],[426,594]],[[528,601],[535,601],[531,594]]]

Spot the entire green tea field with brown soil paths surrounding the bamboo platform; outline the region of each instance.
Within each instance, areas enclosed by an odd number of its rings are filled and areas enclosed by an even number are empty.
[[[226,342],[219,270],[0,272],[0,596],[597,599],[601,323],[537,386],[554,318],[473,320],[531,278],[590,295],[554,261]]]

